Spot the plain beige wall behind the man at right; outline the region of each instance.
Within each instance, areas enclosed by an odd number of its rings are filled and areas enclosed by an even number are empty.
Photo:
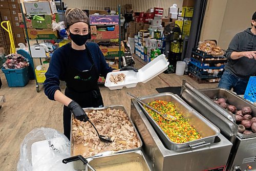
[[[216,39],[227,49],[233,36],[248,27],[256,11],[256,0],[208,0],[200,41]]]

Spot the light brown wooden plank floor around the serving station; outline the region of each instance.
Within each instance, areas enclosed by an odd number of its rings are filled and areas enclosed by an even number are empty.
[[[138,69],[145,65],[139,58],[135,58],[135,62]],[[2,71],[0,76],[3,82],[0,96],[6,97],[6,102],[0,109],[0,170],[16,170],[20,144],[31,130],[35,127],[51,127],[62,132],[63,105],[49,100],[43,89],[37,93],[34,80],[30,80],[24,88],[9,88]],[[130,97],[126,92],[136,96],[157,94],[156,88],[181,86],[182,79],[196,88],[217,87],[216,83],[198,84],[188,76],[162,73],[145,84],[138,83],[135,88],[109,90],[101,87],[100,90],[104,105],[121,104],[130,113]]]

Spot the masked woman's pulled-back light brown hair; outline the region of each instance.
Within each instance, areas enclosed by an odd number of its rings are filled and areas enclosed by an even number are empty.
[[[86,12],[79,8],[68,8],[65,12],[65,18],[67,29],[77,22],[84,22],[89,25],[89,18]]]

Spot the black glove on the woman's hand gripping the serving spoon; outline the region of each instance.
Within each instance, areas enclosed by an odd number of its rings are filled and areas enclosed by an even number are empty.
[[[87,114],[83,111],[81,106],[74,100],[72,100],[69,103],[68,108],[71,110],[71,112],[73,112],[76,119],[79,119],[80,121],[85,121],[85,122],[89,120],[89,117],[87,116]]]

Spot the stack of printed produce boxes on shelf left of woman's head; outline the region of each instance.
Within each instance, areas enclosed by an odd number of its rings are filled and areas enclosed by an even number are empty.
[[[52,29],[52,23],[58,23],[57,9],[53,1],[26,1],[23,12],[26,15],[29,39],[58,39],[57,31]],[[19,22],[24,23],[21,13],[18,18]],[[24,27],[24,24],[20,26]]]

